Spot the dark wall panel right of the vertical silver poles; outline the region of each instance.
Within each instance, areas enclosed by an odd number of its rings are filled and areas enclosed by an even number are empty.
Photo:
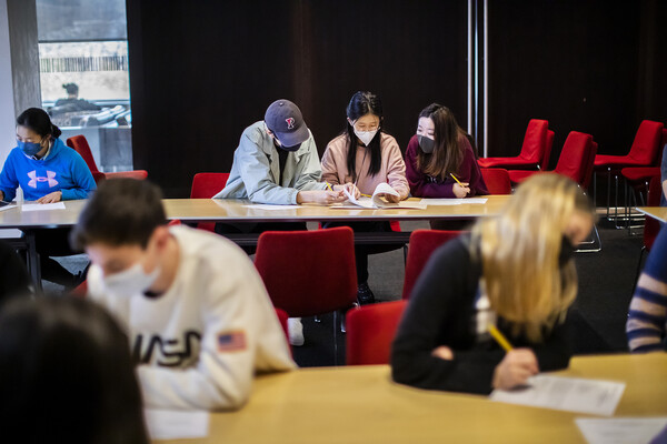
[[[489,2],[489,155],[516,155],[531,118],[556,132],[551,167],[573,130],[625,154],[641,120],[666,121],[665,12],[657,1]]]

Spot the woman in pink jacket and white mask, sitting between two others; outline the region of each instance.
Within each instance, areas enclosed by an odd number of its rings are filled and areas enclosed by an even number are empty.
[[[329,142],[322,157],[322,181],[332,185],[351,182],[361,194],[367,195],[386,182],[399,194],[386,195],[389,202],[406,199],[409,194],[406,164],[396,139],[382,131],[382,123],[380,98],[371,92],[356,92],[347,107],[346,130]],[[351,226],[356,232],[391,231],[389,222],[329,222],[323,226],[339,225]],[[382,251],[387,248],[359,245],[355,250],[357,296],[361,304],[375,302],[368,286],[368,254]]]

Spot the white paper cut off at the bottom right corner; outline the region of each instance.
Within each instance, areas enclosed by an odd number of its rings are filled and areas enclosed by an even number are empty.
[[[667,426],[667,417],[578,417],[575,422],[588,444],[645,444]]]

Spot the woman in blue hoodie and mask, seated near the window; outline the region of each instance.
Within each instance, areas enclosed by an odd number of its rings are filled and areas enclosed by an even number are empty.
[[[21,186],[27,201],[52,203],[86,199],[96,189],[94,180],[74,150],[60,139],[60,129],[51,123],[49,114],[39,108],[29,108],[17,119],[17,148],[11,150],[0,173],[0,200],[11,201]],[[39,230],[36,246],[41,256],[43,279],[72,286],[73,275],[51,255],[69,255],[69,229]]]

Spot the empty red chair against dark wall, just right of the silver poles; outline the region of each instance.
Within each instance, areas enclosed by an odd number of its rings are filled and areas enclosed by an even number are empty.
[[[531,119],[526,129],[521,152],[516,158],[482,158],[479,159],[481,168],[505,168],[512,170],[536,170],[545,159],[548,142],[549,122]],[[547,168],[545,164],[544,168]]]

